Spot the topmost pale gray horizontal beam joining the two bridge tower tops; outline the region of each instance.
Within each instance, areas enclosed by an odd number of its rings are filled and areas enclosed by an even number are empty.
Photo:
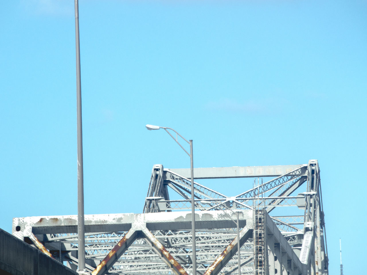
[[[211,167],[194,168],[194,179],[226,179],[235,177],[278,177],[291,172],[301,166],[299,165],[270,165],[270,166],[233,166],[233,167]],[[164,169],[170,170],[182,177],[190,177],[189,168]]]

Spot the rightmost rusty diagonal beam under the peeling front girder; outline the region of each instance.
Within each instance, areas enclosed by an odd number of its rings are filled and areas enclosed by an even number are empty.
[[[247,224],[240,231],[240,246],[242,246],[248,238],[252,236],[252,223]],[[211,266],[205,271],[203,275],[217,275],[219,271],[228,263],[228,261],[237,253],[237,236],[226,247],[226,249],[218,256],[217,259],[211,264]]]

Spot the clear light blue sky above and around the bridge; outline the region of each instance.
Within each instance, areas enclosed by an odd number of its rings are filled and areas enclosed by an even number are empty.
[[[189,168],[145,124],[172,127],[193,139],[194,167],[318,159],[330,275],[340,237],[345,273],[360,274],[366,0],[80,0],[79,17],[86,214],[141,213],[154,164]],[[1,1],[0,26],[11,232],[13,217],[77,213],[74,1]]]

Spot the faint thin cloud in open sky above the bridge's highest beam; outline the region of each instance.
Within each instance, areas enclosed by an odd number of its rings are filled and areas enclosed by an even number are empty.
[[[206,104],[206,108],[212,111],[227,111],[236,113],[279,113],[286,109],[288,100],[282,98],[267,98],[267,99],[251,99],[251,100],[236,100],[236,99],[219,99],[210,101]]]

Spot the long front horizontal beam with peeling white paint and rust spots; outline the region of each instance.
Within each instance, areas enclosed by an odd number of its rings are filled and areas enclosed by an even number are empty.
[[[240,227],[252,223],[252,210],[239,210]],[[236,213],[230,210],[196,211],[197,229],[231,228]],[[190,230],[191,212],[161,212],[143,214],[85,215],[86,232],[128,231],[132,225],[144,224],[149,230]],[[13,227],[19,226],[23,236],[33,234],[76,233],[77,216],[47,216],[14,218]],[[18,236],[19,238],[19,236]]]

